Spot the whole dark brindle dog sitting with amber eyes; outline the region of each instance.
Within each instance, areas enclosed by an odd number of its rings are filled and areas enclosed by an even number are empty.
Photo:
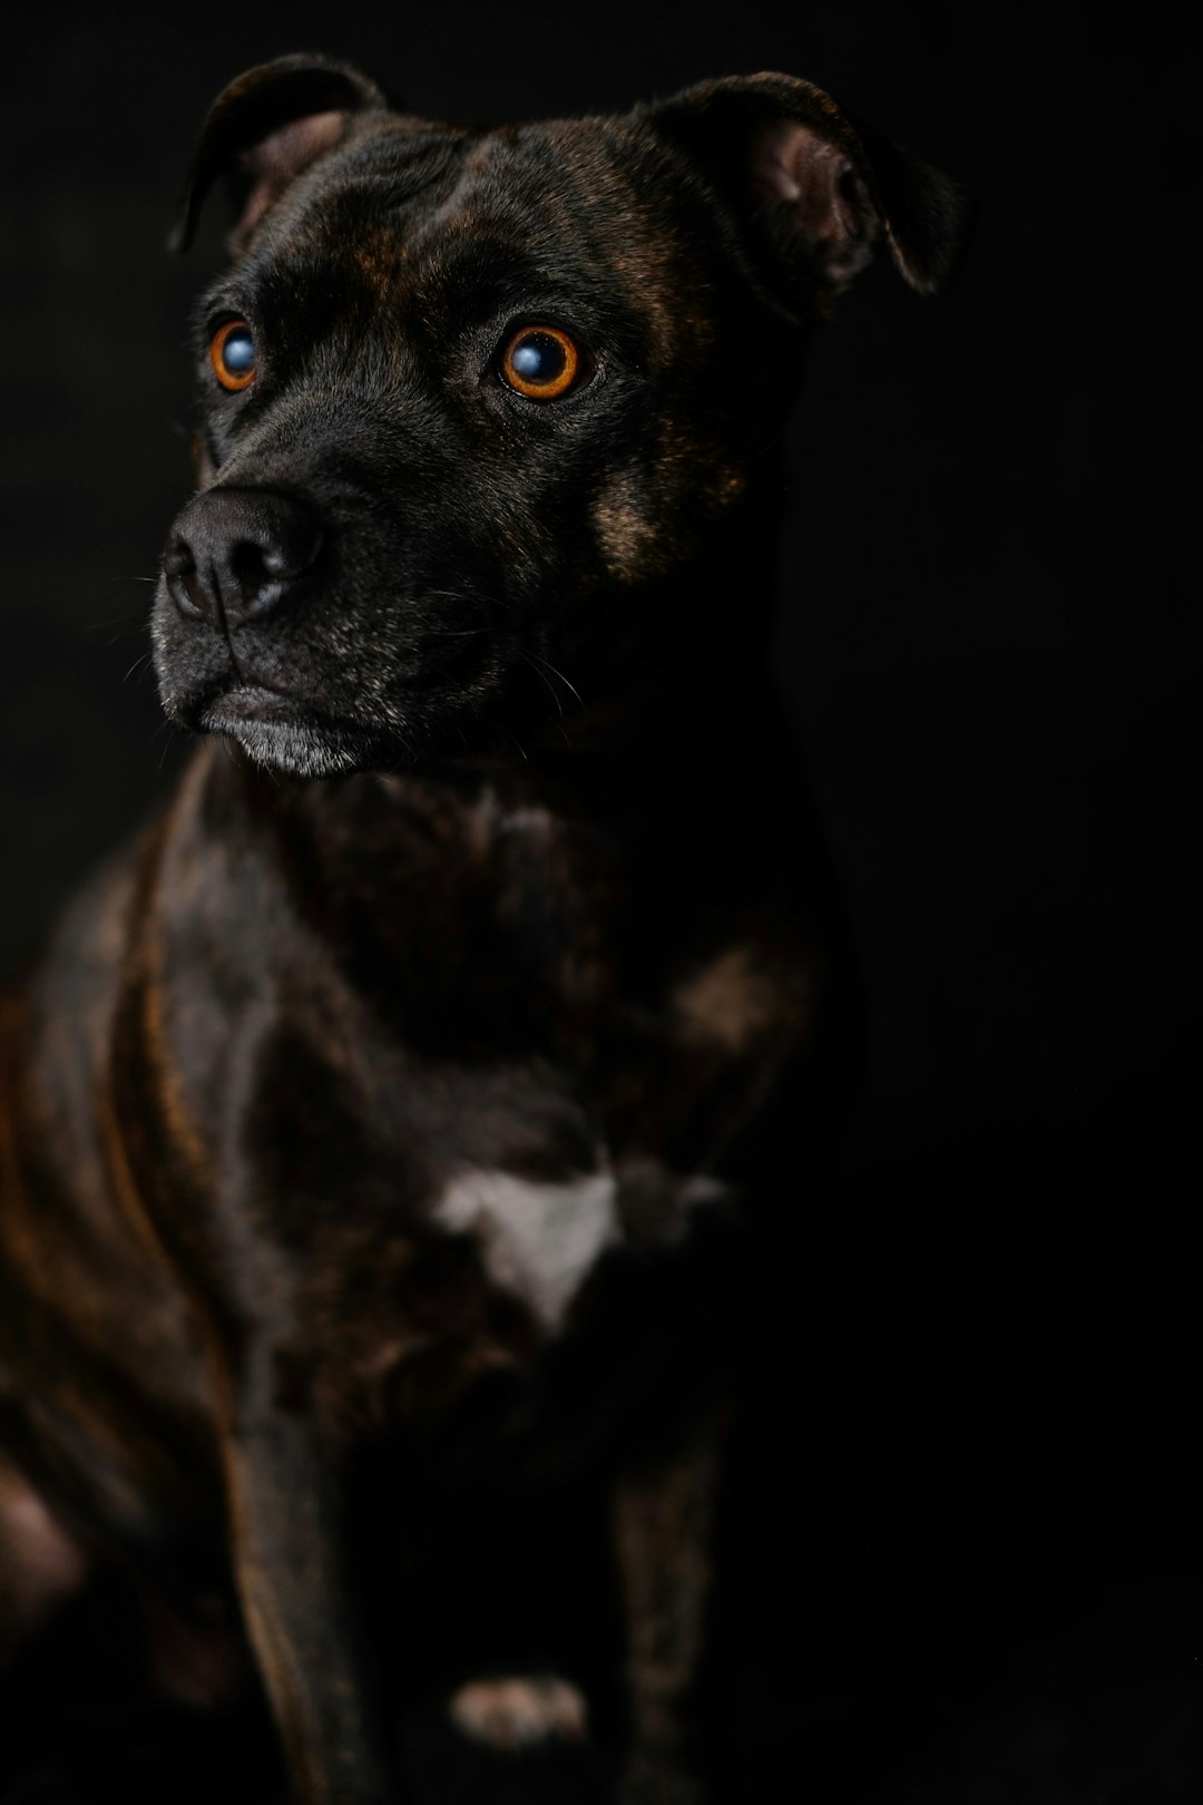
[[[249,1644],[296,1805],[411,1798],[431,1677],[584,1762],[575,1581],[523,1601],[606,1500],[620,1794],[694,1800],[725,1285],[824,1074],[777,444],[965,199],[788,76],[482,132],[319,58],[218,97],[180,244],[218,179],[152,628],[206,738],[4,1014],[9,1659],[132,1561],[166,1691]]]

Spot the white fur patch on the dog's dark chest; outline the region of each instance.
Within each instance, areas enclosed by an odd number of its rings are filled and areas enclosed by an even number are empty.
[[[435,1220],[474,1235],[496,1285],[523,1298],[557,1328],[597,1256],[619,1240],[617,1184],[597,1171],[565,1184],[534,1184],[510,1171],[460,1173],[435,1204]]]

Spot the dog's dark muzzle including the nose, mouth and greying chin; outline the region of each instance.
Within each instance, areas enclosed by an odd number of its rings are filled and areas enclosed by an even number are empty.
[[[301,776],[527,758],[577,702],[546,662],[539,596],[510,594],[492,552],[427,540],[296,487],[202,491],[155,597],[166,713]]]

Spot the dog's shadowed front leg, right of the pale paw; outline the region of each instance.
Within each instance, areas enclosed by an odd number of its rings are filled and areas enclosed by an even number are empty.
[[[718,1433],[615,1487],[615,1543],[628,1632],[631,1747],[622,1805],[698,1805],[685,1711],[711,1592]]]

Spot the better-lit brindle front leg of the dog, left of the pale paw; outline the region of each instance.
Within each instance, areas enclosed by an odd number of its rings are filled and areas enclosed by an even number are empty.
[[[251,1368],[271,1368],[253,1356]],[[337,1451],[271,1372],[231,1390],[224,1437],[236,1585],[294,1805],[384,1805],[346,1576]]]

